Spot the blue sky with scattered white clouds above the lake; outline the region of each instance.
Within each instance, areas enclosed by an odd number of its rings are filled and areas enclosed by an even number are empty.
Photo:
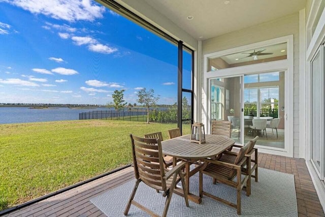
[[[183,52],[183,88],[191,56]],[[0,103],[177,101],[177,46],[90,0],[0,0]]]

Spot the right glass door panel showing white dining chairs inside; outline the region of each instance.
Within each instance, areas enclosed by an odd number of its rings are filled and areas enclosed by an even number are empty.
[[[244,76],[244,142],[258,135],[256,145],[284,149],[285,72]],[[280,108],[280,109],[279,109]]]

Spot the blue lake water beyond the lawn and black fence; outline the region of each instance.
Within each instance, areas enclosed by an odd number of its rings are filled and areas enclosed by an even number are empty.
[[[79,113],[108,110],[107,108],[70,109],[54,107],[48,109],[30,109],[29,107],[0,107],[1,123],[27,123],[54,120],[78,120]]]

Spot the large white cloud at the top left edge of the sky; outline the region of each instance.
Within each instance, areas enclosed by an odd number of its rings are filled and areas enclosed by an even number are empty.
[[[54,19],[75,22],[76,20],[93,21],[103,18],[104,6],[99,6],[90,0],[4,0],[33,14],[44,14]]]

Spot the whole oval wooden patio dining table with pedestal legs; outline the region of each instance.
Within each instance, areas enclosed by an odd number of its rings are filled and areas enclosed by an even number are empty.
[[[204,163],[198,163],[198,161],[201,160],[201,162],[204,162],[206,158],[213,158],[235,144],[233,139],[224,136],[205,135],[205,138],[206,142],[202,144],[191,142],[190,135],[184,135],[161,142],[163,153],[172,156],[175,163],[176,159],[183,159],[186,162],[185,184],[187,187],[187,196],[189,200],[196,203],[201,203],[202,198],[189,192],[189,178],[206,166]],[[191,170],[190,165],[193,163],[197,164],[197,166]],[[175,193],[184,196],[183,191],[179,188],[175,189]]]

